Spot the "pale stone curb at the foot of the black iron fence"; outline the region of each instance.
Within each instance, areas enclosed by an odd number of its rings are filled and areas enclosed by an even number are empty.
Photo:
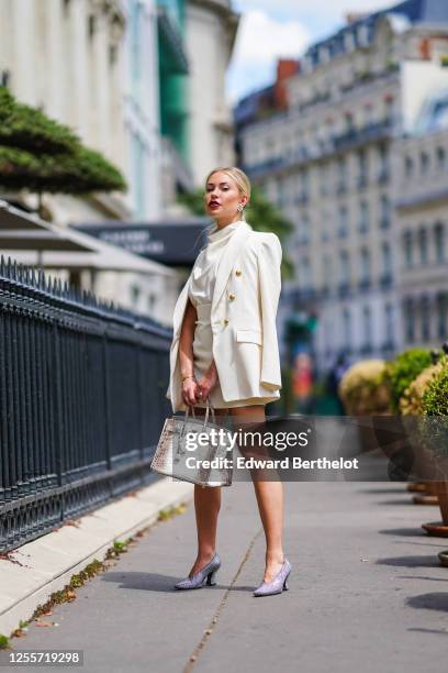
[[[124,541],[154,523],[160,509],[193,497],[188,482],[163,477],[11,552],[0,560],[0,633],[10,637],[20,620],[64,588],[91,561],[103,561],[115,540]]]

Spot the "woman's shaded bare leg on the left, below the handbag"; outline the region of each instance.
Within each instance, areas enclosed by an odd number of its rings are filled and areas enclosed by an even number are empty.
[[[204,409],[194,407],[194,413],[203,416]],[[226,415],[226,409],[215,409],[216,416]],[[216,550],[217,515],[221,508],[221,486],[198,486],[194,484],[194,512],[198,531],[198,555],[190,571],[190,577],[199,572],[214,556]]]

